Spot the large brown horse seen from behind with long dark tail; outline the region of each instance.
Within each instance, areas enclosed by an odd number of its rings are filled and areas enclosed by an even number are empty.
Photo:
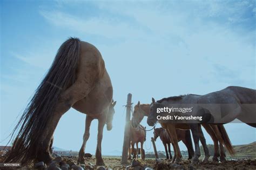
[[[53,132],[62,115],[73,107],[87,114],[87,126],[90,119],[98,119],[96,164],[104,165],[101,143],[104,125],[111,129],[112,95],[111,80],[98,49],[78,38],[66,40],[15,127],[19,140],[4,161],[26,164],[36,159],[49,163]]]

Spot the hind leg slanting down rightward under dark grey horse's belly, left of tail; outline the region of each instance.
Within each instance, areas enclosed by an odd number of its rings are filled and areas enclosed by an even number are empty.
[[[206,132],[210,135],[210,137],[212,138],[213,140],[213,144],[214,144],[214,155],[212,157],[212,161],[213,162],[218,162],[218,157],[220,156],[220,153],[219,153],[219,143],[218,143],[218,139],[213,131],[213,129],[211,128],[210,125],[208,124],[202,124],[203,127],[205,128]]]

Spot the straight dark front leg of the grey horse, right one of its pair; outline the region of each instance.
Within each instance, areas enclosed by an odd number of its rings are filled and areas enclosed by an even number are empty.
[[[194,147],[195,153],[194,157],[192,158],[192,164],[197,164],[199,162],[200,157],[200,147],[199,147],[199,132],[198,132],[198,125],[197,124],[190,124],[190,129],[192,132],[193,140],[194,140]]]

